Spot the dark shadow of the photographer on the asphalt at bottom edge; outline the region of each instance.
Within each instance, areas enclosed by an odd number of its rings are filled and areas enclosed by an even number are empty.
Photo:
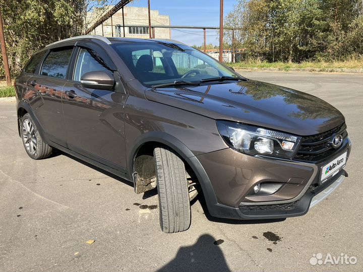
[[[209,234],[203,234],[194,245],[180,247],[176,256],[157,271],[230,271],[221,244]]]

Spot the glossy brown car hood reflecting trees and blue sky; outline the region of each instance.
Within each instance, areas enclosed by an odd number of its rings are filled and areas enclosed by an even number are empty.
[[[315,96],[259,81],[147,89],[147,99],[213,119],[313,135],[344,122],[333,106]]]

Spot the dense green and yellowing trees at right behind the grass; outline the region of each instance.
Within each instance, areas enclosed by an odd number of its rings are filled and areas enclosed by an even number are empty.
[[[224,39],[245,58],[343,60],[362,54],[361,0],[239,0],[225,19]]]

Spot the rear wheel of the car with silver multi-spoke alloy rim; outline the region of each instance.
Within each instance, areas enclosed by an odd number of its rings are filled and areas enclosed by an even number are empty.
[[[52,147],[44,143],[29,113],[24,114],[20,131],[25,151],[30,158],[40,160],[50,156]]]

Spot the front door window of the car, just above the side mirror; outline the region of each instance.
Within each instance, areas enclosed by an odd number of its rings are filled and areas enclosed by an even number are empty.
[[[84,74],[95,71],[108,71],[108,69],[99,63],[87,49],[81,48],[78,53],[73,80],[80,82]]]

